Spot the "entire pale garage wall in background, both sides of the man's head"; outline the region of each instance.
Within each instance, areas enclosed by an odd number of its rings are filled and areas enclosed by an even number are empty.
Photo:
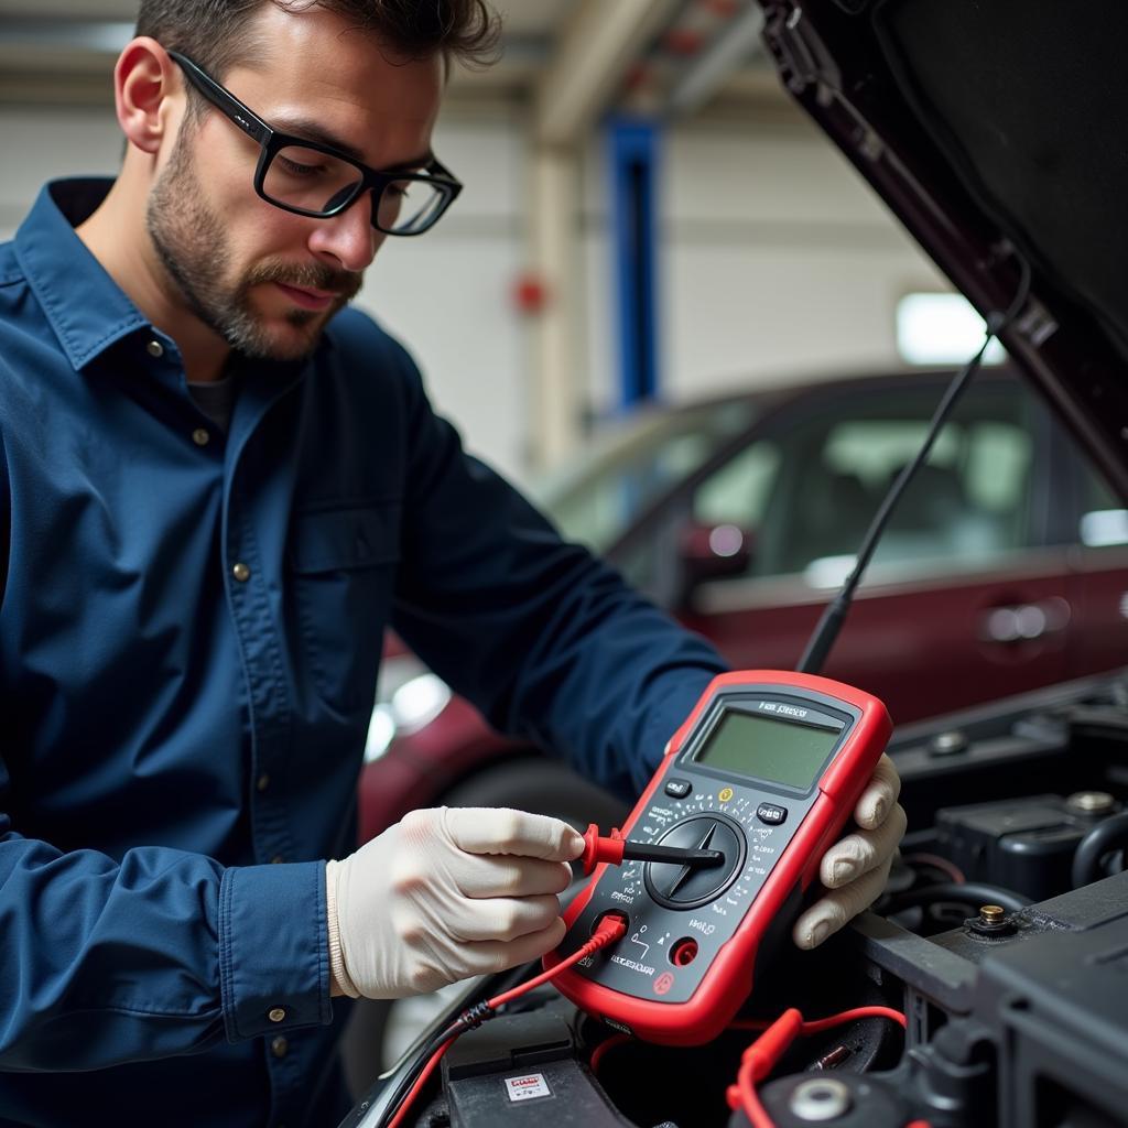
[[[112,175],[121,139],[108,111],[0,108],[0,236],[41,183]],[[468,446],[526,476],[531,324],[512,299],[527,262],[522,123],[499,111],[440,125],[435,149],[466,182],[426,237],[389,240],[360,305],[403,336],[432,396]],[[619,386],[602,143],[578,176],[589,414]],[[805,125],[677,127],[663,142],[660,332],[664,395],[681,400],[788,374],[896,363],[893,310],[942,285],[856,174]]]

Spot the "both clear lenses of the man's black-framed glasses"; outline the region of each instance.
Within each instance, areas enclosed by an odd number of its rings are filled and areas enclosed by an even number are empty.
[[[350,201],[362,180],[355,165],[317,149],[285,146],[274,153],[263,192],[275,203],[325,215]],[[430,224],[446,193],[423,180],[394,180],[380,193],[373,219],[382,231],[416,231]]]

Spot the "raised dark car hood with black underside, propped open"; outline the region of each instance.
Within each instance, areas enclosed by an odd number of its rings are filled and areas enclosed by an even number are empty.
[[[759,0],[795,99],[1128,500],[1128,3]]]

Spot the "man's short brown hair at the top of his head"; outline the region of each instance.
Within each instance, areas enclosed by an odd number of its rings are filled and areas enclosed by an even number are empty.
[[[470,67],[496,59],[501,26],[487,0],[141,0],[138,35],[179,51],[222,79],[254,51],[243,34],[264,3],[298,15],[334,12],[412,59],[435,54]]]

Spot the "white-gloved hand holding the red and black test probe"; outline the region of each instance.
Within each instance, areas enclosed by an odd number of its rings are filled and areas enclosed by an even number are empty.
[[[334,978],[354,998],[402,998],[544,955],[564,936],[556,895],[582,852],[572,827],[541,814],[413,811],[328,863]]]

